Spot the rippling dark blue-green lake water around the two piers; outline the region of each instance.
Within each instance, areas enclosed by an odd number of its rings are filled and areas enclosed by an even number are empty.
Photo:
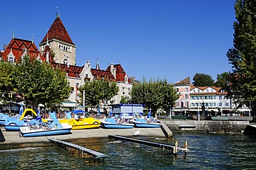
[[[138,136],[138,138],[141,138]],[[75,140],[74,143],[107,154],[104,163],[71,156],[58,147],[1,150],[0,169],[255,169],[256,138],[243,135],[183,133],[170,139],[142,138],[179,145],[188,141],[188,156],[109,138]],[[0,144],[1,147],[1,144]]]

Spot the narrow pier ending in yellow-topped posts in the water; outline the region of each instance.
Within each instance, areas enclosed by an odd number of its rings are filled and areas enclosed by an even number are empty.
[[[136,143],[140,143],[143,145],[149,145],[152,147],[160,147],[163,149],[170,149],[172,150],[172,153],[176,156],[176,153],[180,150],[180,151],[184,151],[185,152],[185,156],[187,154],[187,152],[189,151],[189,149],[187,148],[187,142],[185,142],[185,147],[178,147],[178,142],[175,143],[175,145],[168,145],[165,143],[158,143],[158,142],[152,142],[152,141],[148,141],[148,140],[141,140],[141,139],[136,139],[136,138],[129,138],[126,136],[119,136],[119,135],[109,135],[109,138],[116,138],[118,140],[127,140],[129,142],[136,142]]]

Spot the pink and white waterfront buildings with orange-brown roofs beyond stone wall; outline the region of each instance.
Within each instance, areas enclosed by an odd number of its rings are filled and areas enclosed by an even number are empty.
[[[235,108],[230,98],[226,98],[227,92],[221,87],[195,87],[190,84],[190,78],[174,84],[180,98],[176,100],[174,111],[176,114],[196,114],[202,111],[204,103],[206,113],[230,114]]]

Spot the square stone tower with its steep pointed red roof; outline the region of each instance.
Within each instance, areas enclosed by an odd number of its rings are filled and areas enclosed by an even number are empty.
[[[48,42],[47,42],[48,41]],[[39,50],[43,54],[46,46],[49,45],[53,52],[53,62],[65,65],[75,65],[75,49],[76,46],[71,40],[60,14],[56,14],[56,19],[48,30],[44,39],[39,43]]]

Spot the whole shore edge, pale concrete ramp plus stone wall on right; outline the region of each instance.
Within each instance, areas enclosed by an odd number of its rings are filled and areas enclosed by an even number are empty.
[[[250,125],[249,121],[211,121],[211,120],[172,120],[161,119],[174,133],[195,132],[210,134],[242,134],[245,127]],[[135,131],[140,129],[138,136],[154,136],[159,138],[167,138],[161,127],[158,128],[136,128],[133,129],[104,129],[102,127],[96,129],[79,129],[71,130],[70,134],[57,136],[40,136],[40,137],[20,137],[19,131],[5,131],[1,127],[1,134],[4,142],[0,142],[0,149],[24,148],[24,147],[42,147],[52,146],[50,138],[58,140],[79,140],[86,138],[108,138],[109,135],[133,136]],[[0,134],[0,136],[1,136]],[[170,137],[170,136],[169,136]]]

